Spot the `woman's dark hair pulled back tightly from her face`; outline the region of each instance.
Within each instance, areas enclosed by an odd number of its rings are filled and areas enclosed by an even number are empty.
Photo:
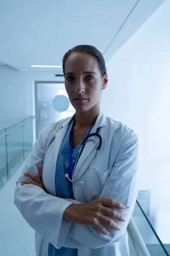
[[[102,76],[105,75],[106,67],[105,67],[105,60],[103,58],[102,53],[99,52],[99,50],[96,49],[96,47],[91,45],[77,45],[74,48],[70,49],[68,52],[66,52],[62,59],[62,69],[63,69],[64,76],[65,76],[65,61],[73,52],[84,52],[84,53],[89,53],[93,55],[97,59],[101,75]]]

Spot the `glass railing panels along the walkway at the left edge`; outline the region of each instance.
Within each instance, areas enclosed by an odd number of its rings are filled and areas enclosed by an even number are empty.
[[[0,189],[31,152],[34,119],[28,117],[0,131]]]

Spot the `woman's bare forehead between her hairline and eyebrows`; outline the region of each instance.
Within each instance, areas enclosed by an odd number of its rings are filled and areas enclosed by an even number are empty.
[[[65,73],[82,73],[85,71],[99,72],[97,59],[89,53],[71,53],[71,55],[65,61]]]

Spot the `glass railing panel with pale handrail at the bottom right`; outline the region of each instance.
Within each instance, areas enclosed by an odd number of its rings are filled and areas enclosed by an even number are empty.
[[[127,232],[130,256],[170,256],[138,201]]]

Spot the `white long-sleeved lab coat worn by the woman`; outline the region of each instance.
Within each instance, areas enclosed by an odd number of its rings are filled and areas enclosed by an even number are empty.
[[[51,243],[56,248],[78,248],[78,256],[129,256],[126,228],[138,193],[138,137],[132,129],[105,117],[100,110],[91,133],[102,127],[99,131],[102,147],[81,179],[84,185],[73,184],[75,200],[57,198],[57,157],[70,121],[71,118],[62,119],[40,131],[17,180],[14,204],[35,230],[36,255],[48,256],[48,243]],[[85,171],[98,143],[99,138],[94,136],[85,144],[74,179]],[[35,172],[38,175],[38,163],[43,165],[42,179],[49,194],[35,185],[21,186],[21,182],[28,179],[23,175],[24,172]],[[110,232],[110,236],[105,236],[95,227],[62,219],[70,204],[83,204],[95,198],[113,198],[125,205],[126,209],[119,212],[124,215],[126,221],[113,218],[121,227],[120,231],[105,225]]]

